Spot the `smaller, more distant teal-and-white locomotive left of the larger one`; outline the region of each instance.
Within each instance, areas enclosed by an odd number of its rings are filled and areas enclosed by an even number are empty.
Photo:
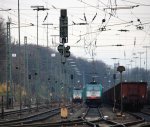
[[[82,103],[83,102],[83,90],[81,88],[74,88],[73,89],[73,103]]]

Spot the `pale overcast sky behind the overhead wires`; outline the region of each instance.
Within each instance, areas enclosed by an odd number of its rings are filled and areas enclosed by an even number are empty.
[[[11,25],[12,40],[18,40],[17,0],[0,0],[0,15]],[[102,60],[113,65],[111,58],[119,58],[121,65],[146,66],[146,49],[150,46],[150,1],[149,0],[20,0],[21,43],[27,36],[28,43],[36,44],[36,11],[31,6],[44,6],[48,11],[39,11],[39,44],[46,46],[46,26],[49,26],[49,47],[57,51],[59,44],[60,9],[67,9],[68,44],[77,57]],[[112,8],[112,9],[111,9]],[[4,11],[11,9],[10,11]],[[44,21],[45,16],[47,19]],[[44,22],[43,22],[44,21]],[[30,24],[34,26],[29,26]],[[87,23],[88,25],[76,25]],[[29,26],[29,27],[23,27]],[[126,32],[125,32],[126,31]],[[124,45],[116,47],[114,45]],[[134,57],[138,57],[134,59]],[[126,60],[125,60],[126,59]],[[150,48],[147,66],[150,66]]]

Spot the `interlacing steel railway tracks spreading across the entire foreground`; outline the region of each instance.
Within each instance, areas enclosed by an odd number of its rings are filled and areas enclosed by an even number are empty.
[[[137,120],[127,123],[119,123],[105,119],[103,112],[100,108],[88,108],[83,117],[77,119],[61,119],[58,122],[42,122],[45,119],[51,118],[60,113],[60,108],[49,110],[47,112],[39,113],[37,115],[29,116],[28,118],[20,119],[18,121],[11,121],[6,123],[0,123],[0,127],[58,127],[58,126],[78,126],[78,127],[126,127],[136,125],[144,122],[144,115],[141,113],[132,113]],[[147,116],[145,116],[147,118]],[[149,121],[150,119],[146,120]]]

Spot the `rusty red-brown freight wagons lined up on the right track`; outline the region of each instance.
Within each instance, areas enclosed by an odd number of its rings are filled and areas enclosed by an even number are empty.
[[[121,87],[122,86],[122,87]],[[121,93],[122,88],[122,93]],[[109,104],[114,103],[114,90],[116,106],[120,107],[121,99],[123,110],[140,111],[147,99],[146,82],[122,82],[103,93],[103,100]]]

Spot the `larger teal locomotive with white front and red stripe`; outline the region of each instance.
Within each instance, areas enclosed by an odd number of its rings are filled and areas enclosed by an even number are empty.
[[[86,84],[83,89],[84,101],[88,107],[101,106],[102,85],[95,81]]]

